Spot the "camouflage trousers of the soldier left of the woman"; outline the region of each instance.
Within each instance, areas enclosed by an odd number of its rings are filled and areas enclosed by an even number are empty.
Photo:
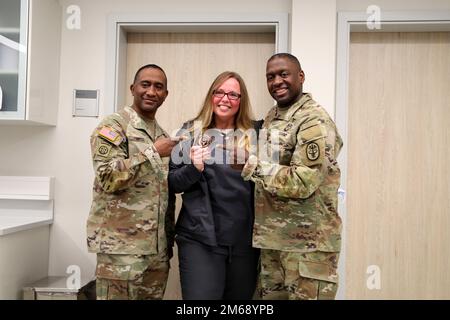
[[[169,276],[167,254],[97,254],[97,300],[162,299]]]

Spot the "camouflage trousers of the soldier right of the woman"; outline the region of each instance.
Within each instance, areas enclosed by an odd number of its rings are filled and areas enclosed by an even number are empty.
[[[334,299],[337,252],[285,252],[261,249],[258,291],[264,300]]]

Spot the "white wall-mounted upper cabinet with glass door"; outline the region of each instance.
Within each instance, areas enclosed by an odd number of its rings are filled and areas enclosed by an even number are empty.
[[[0,125],[56,125],[62,8],[0,1]]]

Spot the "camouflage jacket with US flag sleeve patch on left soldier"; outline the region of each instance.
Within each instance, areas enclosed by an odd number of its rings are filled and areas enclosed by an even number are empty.
[[[87,221],[89,252],[156,254],[173,243],[174,198],[167,183],[168,158],[153,142],[168,137],[154,120],[131,107],[106,117],[91,135],[95,171]]]

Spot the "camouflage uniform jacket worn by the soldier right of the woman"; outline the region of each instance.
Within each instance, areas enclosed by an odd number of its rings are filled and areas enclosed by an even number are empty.
[[[271,142],[270,135],[277,133],[278,143]],[[340,170],[336,158],[342,139],[334,122],[305,93],[289,108],[273,107],[261,135],[267,137],[269,153],[278,150],[279,161],[253,154],[242,171],[244,179],[256,183],[253,246],[339,252]]]

